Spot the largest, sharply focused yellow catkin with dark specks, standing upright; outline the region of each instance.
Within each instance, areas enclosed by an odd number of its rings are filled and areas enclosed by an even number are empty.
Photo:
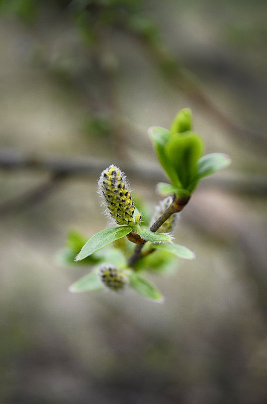
[[[99,182],[99,194],[104,197],[111,216],[118,224],[134,223],[134,203],[127,190],[127,180],[120,168],[110,165],[102,171]]]

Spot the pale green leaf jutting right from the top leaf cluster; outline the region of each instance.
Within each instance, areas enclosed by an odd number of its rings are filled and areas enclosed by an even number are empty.
[[[197,163],[199,178],[213,174],[231,164],[231,159],[224,153],[211,153],[201,157]]]

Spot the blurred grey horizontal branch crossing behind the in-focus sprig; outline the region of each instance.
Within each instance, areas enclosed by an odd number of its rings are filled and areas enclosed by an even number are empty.
[[[151,162],[124,163],[117,161],[127,176],[136,181],[156,185],[160,181],[166,181],[159,165]],[[25,154],[17,149],[0,149],[0,168],[6,170],[41,170],[50,171],[51,174],[59,176],[82,176],[98,178],[102,170],[110,165],[110,160],[85,157],[85,156],[60,156],[55,154],[46,154],[32,156]],[[229,172],[229,170],[228,170]],[[219,188],[233,192],[240,192],[252,195],[266,195],[267,181],[265,176],[235,174],[224,177],[222,174],[216,174],[215,177],[206,179],[202,187]]]

